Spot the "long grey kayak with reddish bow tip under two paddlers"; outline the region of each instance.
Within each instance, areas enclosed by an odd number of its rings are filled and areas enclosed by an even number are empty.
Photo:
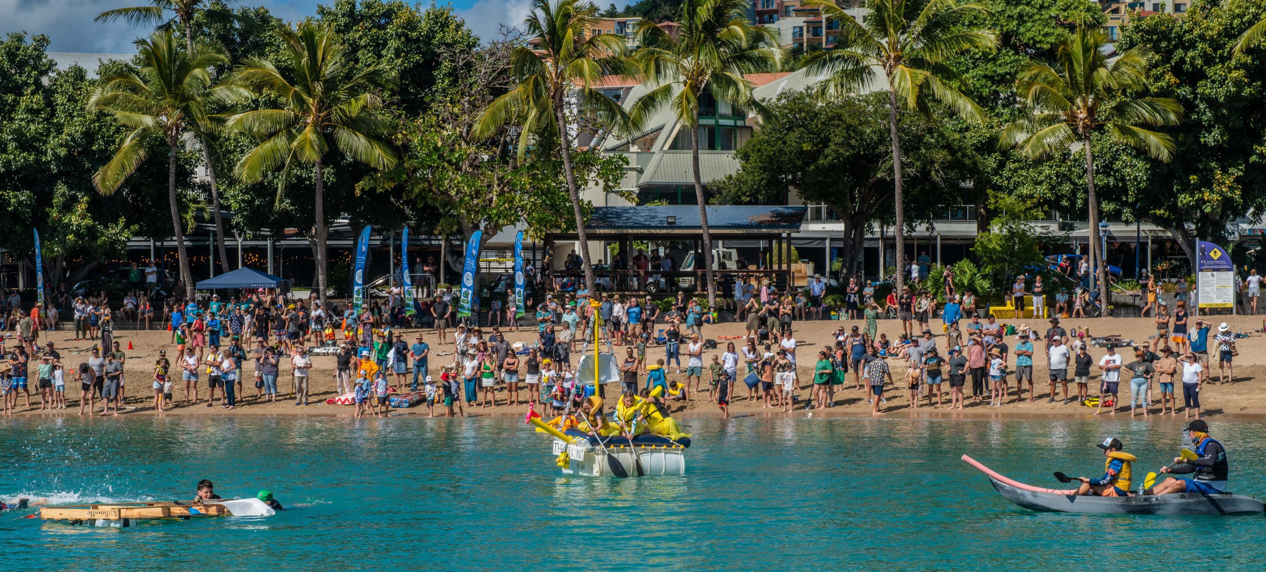
[[[1029,510],[1084,514],[1158,514],[1158,515],[1225,515],[1262,514],[1262,501],[1241,495],[1204,495],[1179,492],[1172,495],[1079,496],[1076,488],[1036,487],[1006,478],[979,461],[962,459],[989,477],[1004,499]]]

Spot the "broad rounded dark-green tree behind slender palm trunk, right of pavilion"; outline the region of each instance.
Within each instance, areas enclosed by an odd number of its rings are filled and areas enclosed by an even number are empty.
[[[767,104],[761,128],[734,156],[739,170],[713,185],[723,204],[781,204],[787,192],[822,202],[843,223],[842,276],[861,272],[862,242],[874,221],[891,224],[893,156],[887,94],[849,95],[832,105],[803,91]],[[975,170],[972,149],[944,121],[900,116],[901,161],[912,220],[943,214],[947,190]]]

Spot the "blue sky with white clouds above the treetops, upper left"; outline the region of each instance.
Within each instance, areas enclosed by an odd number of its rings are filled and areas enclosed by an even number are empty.
[[[149,28],[122,22],[101,24],[92,22],[92,18],[105,10],[146,4],[148,4],[146,0],[0,0],[0,33],[27,32],[32,35],[48,35],[51,52],[129,53],[133,51],[132,42],[138,35],[144,35]],[[229,4],[262,5],[277,18],[295,22],[314,14],[322,1],[241,0]],[[476,35],[491,38],[495,37],[499,24],[522,23],[529,0],[453,0],[451,4]],[[627,0],[615,4],[624,5]]]

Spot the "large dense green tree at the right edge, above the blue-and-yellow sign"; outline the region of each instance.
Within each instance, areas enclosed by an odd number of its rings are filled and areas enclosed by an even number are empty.
[[[1241,30],[1263,16],[1261,3],[1201,1],[1181,18],[1143,18],[1117,43],[1152,49],[1150,92],[1174,97],[1186,114],[1166,130],[1170,161],[1143,162],[1143,182],[1103,194],[1104,210],[1129,216],[1138,209],[1193,264],[1196,238],[1229,240],[1237,218],[1266,210],[1266,51],[1233,51]]]

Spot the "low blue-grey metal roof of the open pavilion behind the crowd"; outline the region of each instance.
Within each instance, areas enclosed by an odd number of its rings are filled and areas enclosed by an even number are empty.
[[[799,232],[804,206],[708,206],[710,230],[790,230]],[[676,216],[676,224],[668,224]],[[699,208],[672,206],[598,206],[585,225],[591,230],[698,230]]]

